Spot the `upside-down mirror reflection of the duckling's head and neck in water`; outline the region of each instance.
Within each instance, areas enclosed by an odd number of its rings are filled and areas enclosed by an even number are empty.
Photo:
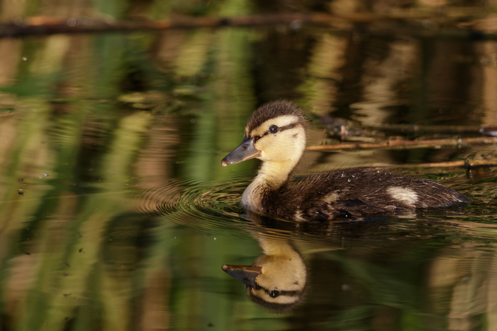
[[[302,257],[286,240],[259,238],[264,255],[252,265],[223,265],[229,275],[247,286],[250,300],[264,308],[282,311],[299,303],[304,294],[307,271]]]

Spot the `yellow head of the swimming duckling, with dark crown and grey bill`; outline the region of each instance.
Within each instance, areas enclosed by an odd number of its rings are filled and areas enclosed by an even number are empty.
[[[297,164],[306,147],[306,119],[302,109],[289,101],[269,102],[252,113],[242,143],[221,164],[251,158]]]

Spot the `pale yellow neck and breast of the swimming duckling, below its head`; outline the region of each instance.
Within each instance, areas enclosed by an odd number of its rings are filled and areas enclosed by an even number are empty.
[[[261,200],[269,190],[285,184],[299,160],[264,161],[257,176],[245,189],[242,204],[252,210],[262,210]]]

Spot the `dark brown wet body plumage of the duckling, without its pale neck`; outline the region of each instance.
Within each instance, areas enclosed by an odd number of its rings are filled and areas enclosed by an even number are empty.
[[[349,181],[350,180],[350,181]],[[393,199],[389,188],[405,188],[417,195],[414,205]],[[332,197],[331,202],[324,201]],[[261,205],[264,211],[282,218],[297,213],[310,220],[338,215],[360,216],[401,209],[449,206],[470,200],[463,194],[425,178],[402,176],[367,168],[349,168],[289,180],[280,188],[268,189]]]

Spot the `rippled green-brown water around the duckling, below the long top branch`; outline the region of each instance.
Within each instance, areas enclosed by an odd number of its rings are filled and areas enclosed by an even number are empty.
[[[496,330],[494,168],[399,170],[466,206],[297,224],[241,216],[258,161],[221,166],[251,111],[282,98],[315,119],[312,144],[336,138],[324,114],[496,125],[496,45],[288,27],[0,39],[0,330]],[[308,152],[299,171],[496,153]],[[307,270],[279,315],[221,270],[267,238]]]

